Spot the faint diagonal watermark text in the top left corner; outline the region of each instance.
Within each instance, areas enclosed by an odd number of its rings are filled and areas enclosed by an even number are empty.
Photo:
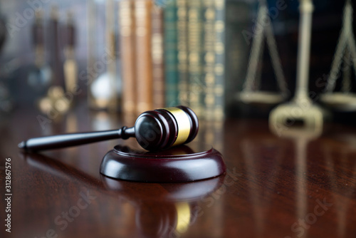
[[[13,38],[15,34],[23,27],[25,27],[28,24],[28,21],[33,19],[35,16],[36,11],[40,11],[43,9],[44,4],[48,4],[52,0],[28,0],[26,3],[28,4],[28,7],[24,9],[22,12],[16,11],[15,12],[15,20],[14,24],[11,23],[6,23],[6,30],[9,33],[9,36]]]

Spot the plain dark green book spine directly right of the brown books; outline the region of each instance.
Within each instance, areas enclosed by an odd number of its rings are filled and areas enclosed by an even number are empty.
[[[177,54],[177,3],[171,0],[167,2],[164,9],[164,61],[167,106],[179,104]]]

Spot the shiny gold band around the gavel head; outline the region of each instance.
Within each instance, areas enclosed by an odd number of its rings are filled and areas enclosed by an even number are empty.
[[[187,141],[192,126],[190,125],[189,116],[184,110],[179,108],[164,108],[172,113],[178,124],[178,135],[172,146],[183,144]]]

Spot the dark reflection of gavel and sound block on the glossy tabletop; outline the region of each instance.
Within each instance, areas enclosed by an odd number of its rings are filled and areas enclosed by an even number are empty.
[[[120,201],[129,202],[130,209],[125,210],[124,215],[135,216],[135,219],[127,219],[127,222],[131,226],[136,225],[135,234],[140,234],[140,237],[181,237],[201,216],[201,209],[204,208],[204,203],[201,200],[211,196],[213,192],[223,186],[225,178],[223,175],[195,182],[161,184],[126,182],[104,175],[101,175],[98,180],[96,176],[89,175],[78,168],[45,155],[25,153],[21,157],[28,164],[26,169],[36,170],[40,177],[51,175],[62,183],[68,180],[79,182],[80,185],[88,188],[88,192],[91,190],[99,192],[99,200],[103,199],[101,195],[118,199],[116,203],[95,203],[94,210],[98,209],[103,213],[102,209],[109,206],[110,215],[118,218],[122,217],[122,214],[117,213],[122,208]],[[63,189],[66,191],[68,187]],[[31,200],[29,202],[33,203]],[[113,209],[112,205],[114,205]],[[112,222],[101,222],[103,224],[93,225],[105,225],[107,228],[112,225]],[[108,234],[110,232],[112,231],[109,231]],[[86,233],[84,232],[84,234]]]

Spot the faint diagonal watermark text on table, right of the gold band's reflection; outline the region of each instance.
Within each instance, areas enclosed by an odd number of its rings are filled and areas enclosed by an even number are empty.
[[[239,174],[236,172],[236,167],[234,167],[232,170],[226,170],[226,176],[224,177],[224,182],[219,187],[217,190],[212,192],[209,196],[201,198],[201,202],[203,202],[203,205],[197,205],[194,207],[194,210],[196,212],[192,213],[189,215],[189,217],[182,217],[182,221],[185,223],[186,227],[190,227],[191,221],[197,219],[197,217],[201,217],[204,215],[204,210],[203,207],[212,207],[214,203],[219,200],[228,190],[229,187],[235,185],[236,181],[239,180]],[[192,217],[191,217],[192,216]],[[182,237],[182,233],[184,231],[179,231],[176,229],[176,227],[169,226],[169,229],[171,232],[169,232],[169,238],[179,238]],[[161,237],[161,238],[166,238],[166,237]]]

